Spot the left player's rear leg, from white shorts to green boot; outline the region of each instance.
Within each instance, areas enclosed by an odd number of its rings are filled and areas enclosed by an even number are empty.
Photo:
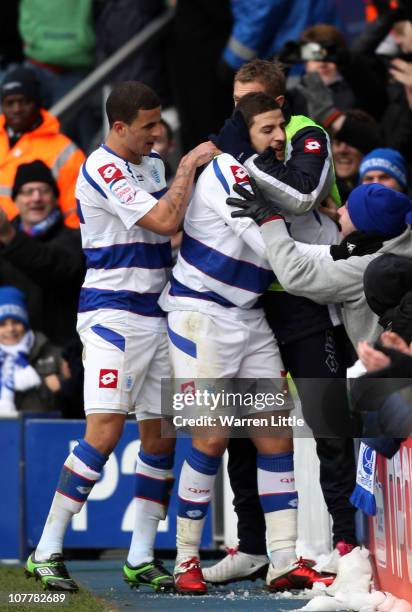
[[[156,591],[174,589],[173,577],[154,558],[159,521],[166,518],[174,483],[175,439],[162,437],[161,379],[170,377],[166,334],[139,333],[134,340],[134,360],[139,355],[139,380],[133,388],[133,404],[140,432],[136,462],[135,520],[130,549],[123,567],[131,587],[146,585]]]

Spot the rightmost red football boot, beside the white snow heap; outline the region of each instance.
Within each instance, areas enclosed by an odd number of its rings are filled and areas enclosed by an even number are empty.
[[[315,582],[330,586],[335,576],[324,576],[313,569],[313,561],[300,557],[287,567],[278,569],[272,564],[266,576],[270,591],[289,591],[290,589],[311,589]]]

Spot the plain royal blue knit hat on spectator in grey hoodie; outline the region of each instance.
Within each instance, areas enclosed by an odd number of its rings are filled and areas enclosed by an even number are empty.
[[[359,185],[348,197],[348,212],[356,229],[397,236],[406,227],[412,202],[404,193],[379,183]]]

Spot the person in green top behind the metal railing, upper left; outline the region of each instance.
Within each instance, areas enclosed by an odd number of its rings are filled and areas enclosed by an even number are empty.
[[[20,0],[19,31],[26,64],[42,84],[46,108],[70,92],[95,64],[95,0]],[[89,100],[62,131],[87,151],[100,126]]]

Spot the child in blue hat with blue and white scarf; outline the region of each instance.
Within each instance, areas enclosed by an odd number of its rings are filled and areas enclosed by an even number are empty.
[[[22,291],[0,287],[0,415],[52,410],[59,374],[59,351],[30,329]]]

